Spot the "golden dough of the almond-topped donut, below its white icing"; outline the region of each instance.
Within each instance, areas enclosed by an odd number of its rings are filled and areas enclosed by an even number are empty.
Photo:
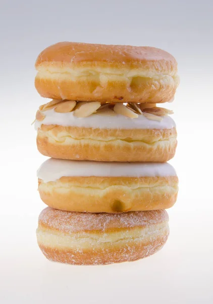
[[[37,147],[58,159],[103,162],[167,162],[175,155],[176,128],[113,130],[41,125]]]

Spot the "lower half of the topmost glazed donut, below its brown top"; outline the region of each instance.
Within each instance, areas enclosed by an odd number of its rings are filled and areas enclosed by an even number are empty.
[[[147,77],[134,77],[131,80],[124,77],[104,78],[100,82],[100,75],[96,77],[76,78],[72,74],[59,75],[54,72],[39,72],[35,78],[35,88],[45,98],[100,101],[100,102],[149,102],[163,103],[174,98],[179,79],[162,76],[155,80]]]

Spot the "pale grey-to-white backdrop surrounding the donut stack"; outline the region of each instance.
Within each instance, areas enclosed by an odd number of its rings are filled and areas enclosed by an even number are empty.
[[[212,303],[213,2],[1,2],[1,303]],[[172,53],[180,87],[175,111],[180,178],[170,238],[134,263],[72,267],[48,262],[35,238],[45,207],[36,169],[45,160],[30,123],[44,100],[34,62],[59,41],[148,45]]]

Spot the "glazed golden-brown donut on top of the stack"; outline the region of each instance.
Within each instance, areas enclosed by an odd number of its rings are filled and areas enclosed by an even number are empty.
[[[151,47],[61,42],[35,63],[42,97],[114,102],[167,102],[179,85],[177,62]]]

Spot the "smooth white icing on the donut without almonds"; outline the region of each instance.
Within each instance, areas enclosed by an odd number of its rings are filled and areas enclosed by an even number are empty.
[[[56,181],[63,176],[176,176],[168,163],[114,163],[46,160],[38,169],[37,177],[44,182]]]

